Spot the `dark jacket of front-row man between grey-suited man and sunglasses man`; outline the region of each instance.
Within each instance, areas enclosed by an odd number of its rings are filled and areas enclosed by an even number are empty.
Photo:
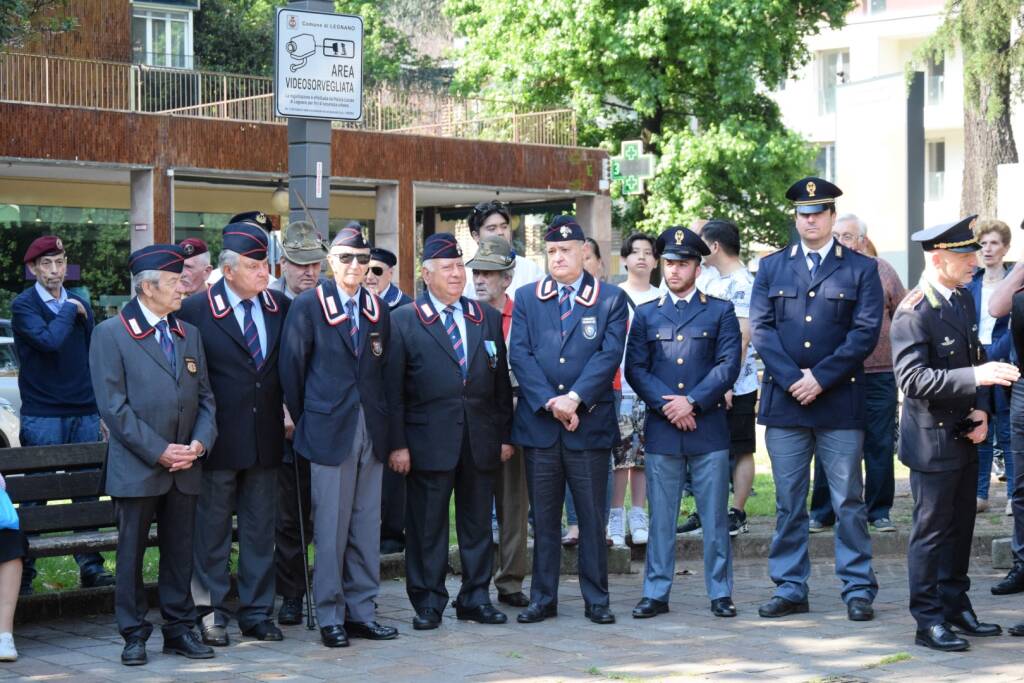
[[[242,328],[217,281],[206,292],[188,297],[178,317],[203,335],[210,385],[217,398],[217,446],[203,466],[210,470],[244,470],[281,463],[285,439],[284,394],[278,372],[281,330],[290,301],[279,292],[259,296],[266,326],[263,365],[257,370]]]

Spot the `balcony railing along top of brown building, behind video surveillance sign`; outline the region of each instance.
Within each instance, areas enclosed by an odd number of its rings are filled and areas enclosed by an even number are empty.
[[[0,53],[0,100],[284,124],[273,81],[259,76],[168,69],[18,52]],[[336,128],[532,144],[577,144],[570,110],[380,86],[364,92],[362,118]]]

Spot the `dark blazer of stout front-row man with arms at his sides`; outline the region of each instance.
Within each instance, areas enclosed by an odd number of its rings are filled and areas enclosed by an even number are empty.
[[[466,317],[465,383],[444,323],[427,294],[415,306],[391,313],[387,382],[397,391],[390,405],[391,450],[408,447],[413,469],[455,469],[464,425],[480,469],[498,467],[502,443],[512,442],[512,384],[502,314],[465,297],[460,305]]]

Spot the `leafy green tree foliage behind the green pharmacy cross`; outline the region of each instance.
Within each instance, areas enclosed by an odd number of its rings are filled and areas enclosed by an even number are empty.
[[[445,11],[456,35],[467,38],[458,55],[460,92],[572,106],[582,144],[617,153],[621,140],[641,137],[662,158],[665,177],[648,182],[647,197],[628,200],[638,208],[622,216],[642,216],[639,225],[655,229],[664,220],[712,213],[780,243],[787,207],[778,190],[807,172],[812,157],[781,126],[762,84],[778,83],[804,63],[805,39],[840,26],[853,6],[447,0]],[[737,180],[743,184],[729,184]]]

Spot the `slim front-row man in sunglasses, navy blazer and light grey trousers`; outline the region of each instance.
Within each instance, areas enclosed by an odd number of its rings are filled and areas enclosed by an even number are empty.
[[[381,473],[388,457],[384,370],[391,318],[362,288],[370,247],[344,227],[328,254],[333,282],[292,302],[281,378],[295,420],[293,447],[309,461],[313,508],[313,600],[321,640],[345,647],[348,636],[389,640],[378,624]]]

